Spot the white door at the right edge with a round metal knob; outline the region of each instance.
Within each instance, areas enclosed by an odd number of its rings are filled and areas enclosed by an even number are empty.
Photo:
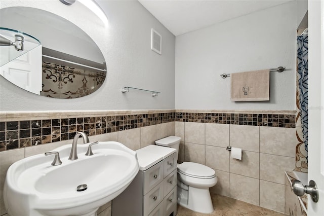
[[[308,181],[318,187],[318,202],[308,195],[308,216],[324,215],[324,1],[308,0]]]

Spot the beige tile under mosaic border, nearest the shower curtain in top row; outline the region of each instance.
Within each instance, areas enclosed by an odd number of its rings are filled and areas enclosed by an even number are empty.
[[[295,157],[295,128],[260,127],[260,152]]]

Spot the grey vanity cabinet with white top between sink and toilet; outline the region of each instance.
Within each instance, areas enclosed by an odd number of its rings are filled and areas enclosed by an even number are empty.
[[[175,216],[176,149],[150,145],[136,153],[140,170],[130,186],[112,200],[112,216]]]

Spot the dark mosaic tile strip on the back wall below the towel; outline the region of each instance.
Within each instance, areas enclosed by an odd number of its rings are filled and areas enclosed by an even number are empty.
[[[176,112],[175,121],[295,128],[295,114]]]

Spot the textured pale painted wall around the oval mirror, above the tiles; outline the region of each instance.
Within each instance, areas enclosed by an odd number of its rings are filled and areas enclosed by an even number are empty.
[[[0,77],[0,111],[174,109],[175,36],[137,1],[97,1],[108,16],[108,27],[76,2],[58,0],[1,1],[1,8],[27,6],[55,13],[83,29],[101,49],[107,63],[104,85],[91,95],[54,99],[26,92]],[[162,55],[150,50],[151,28],[163,37]],[[121,93],[125,86],[160,91]]]

